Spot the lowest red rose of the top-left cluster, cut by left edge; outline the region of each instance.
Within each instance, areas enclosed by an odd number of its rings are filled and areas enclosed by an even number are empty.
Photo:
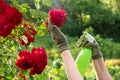
[[[7,22],[5,16],[0,17],[0,36],[7,37],[14,28],[14,24]]]

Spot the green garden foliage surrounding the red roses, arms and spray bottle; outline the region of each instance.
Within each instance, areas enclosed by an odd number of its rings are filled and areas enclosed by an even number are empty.
[[[88,31],[98,41],[105,64],[114,80],[120,80],[120,0],[5,0],[23,13],[23,19],[34,22],[38,32],[35,41],[28,47],[20,46],[18,38],[22,29],[16,27],[6,38],[0,37],[0,76],[3,80],[22,80],[15,66],[17,54],[33,47],[43,46],[48,56],[48,65],[42,74],[29,76],[27,80],[67,80],[58,47],[44,26],[50,9],[62,7],[67,11],[67,20],[61,30],[68,38],[72,56],[77,57],[80,49],[76,42],[83,31]],[[13,35],[17,38],[13,39]],[[34,78],[34,79],[33,79]],[[95,80],[92,63],[85,80]]]

